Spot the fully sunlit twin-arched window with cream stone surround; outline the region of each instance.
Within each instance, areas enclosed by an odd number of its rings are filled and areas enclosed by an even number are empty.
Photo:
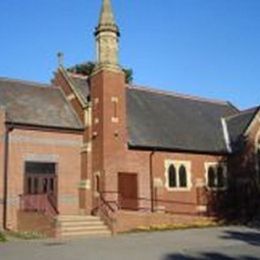
[[[190,162],[165,161],[165,187],[168,190],[189,190],[191,188]]]

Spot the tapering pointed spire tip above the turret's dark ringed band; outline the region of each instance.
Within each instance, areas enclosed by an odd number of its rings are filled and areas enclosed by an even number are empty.
[[[99,18],[99,24],[96,28],[95,35],[102,31],[112,31],[119,36],[119,29],[115,23],[115,18],[110,0],[103,0],[102,9]]]

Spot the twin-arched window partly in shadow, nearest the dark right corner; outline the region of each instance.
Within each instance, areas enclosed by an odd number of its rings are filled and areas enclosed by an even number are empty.
[[[206,163],[206,181],[210,189],[227,188],[227,168],[224,164]]]

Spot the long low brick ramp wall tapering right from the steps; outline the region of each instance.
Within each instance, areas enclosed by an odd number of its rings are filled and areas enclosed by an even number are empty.
[[[140,227],[157,225],[192,225],[212,221],[212,218],[197,215],[174,215],[165,213],[118,211],[115,231],[117,233],[134,230]]]

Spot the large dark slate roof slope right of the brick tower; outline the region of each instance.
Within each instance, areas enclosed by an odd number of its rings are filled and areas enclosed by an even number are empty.
[[[130,147],[226,153],[221,118],[237,112],[228,102],[144,88],[127,89]]]

